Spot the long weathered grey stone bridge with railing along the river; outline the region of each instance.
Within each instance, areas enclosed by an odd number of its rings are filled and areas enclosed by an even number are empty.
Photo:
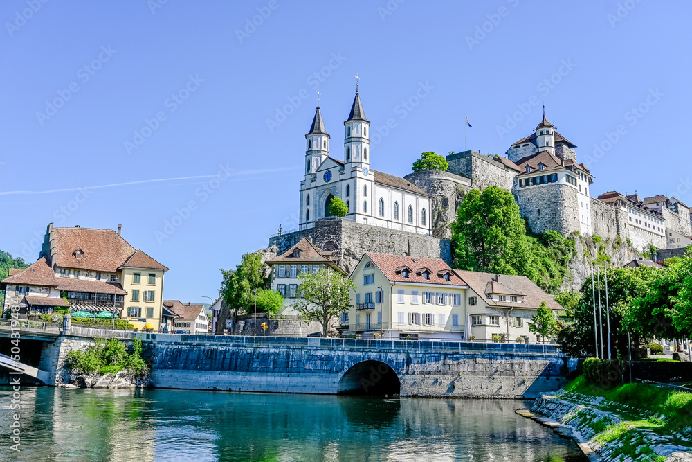
[[[275,393],[534,398],[565,383],[555,346],[306,337],[171,335],[71,328],[22,332],[46,384],[69,380],[67,353],[95,338],[142,339],[154,387]],[[3,337],[5,337],[3,339]],[[0,329],[0,353],[9,332]],[[32,343],[33,342],[33,343]]]

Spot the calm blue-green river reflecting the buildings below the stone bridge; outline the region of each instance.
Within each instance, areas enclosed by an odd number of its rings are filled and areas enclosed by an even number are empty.
[[[518,416],[518,400],[192,390],[0,388],[3,461],[545,461],[579,448]]]

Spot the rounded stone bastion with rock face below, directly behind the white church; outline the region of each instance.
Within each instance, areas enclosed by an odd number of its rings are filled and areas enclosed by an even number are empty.
[[[432,208],[432,236],[452,238],[449,225],[457,219],[457,208],[471,189],[471,180],[439,170],[415,172],[404,177],[428,193]]]

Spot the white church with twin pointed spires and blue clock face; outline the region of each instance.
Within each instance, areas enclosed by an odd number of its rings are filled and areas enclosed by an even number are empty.
[[[430,234],[430,195],[410,181],[370,169],[370,122],[365,118],[356,86],[348,120],[344,122],[343,160],[329,157],[329,134],[318,100],[305,151],[305,179],[300,181],[300,229],[318,220],[334,220],[332,197],[348,207],[343,220],[390,229]]]

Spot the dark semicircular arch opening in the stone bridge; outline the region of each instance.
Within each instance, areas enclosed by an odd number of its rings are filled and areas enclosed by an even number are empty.
[[[401,391],[394,369],[381,361],[362,361],[351,366],[339,379],[338,395],[393,396]]]

